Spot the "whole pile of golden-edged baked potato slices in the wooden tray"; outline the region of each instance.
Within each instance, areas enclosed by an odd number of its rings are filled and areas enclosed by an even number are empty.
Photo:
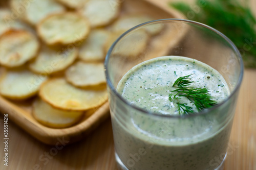
[[[33,115],[45,126],[79,122],[108,98],[103,61],[110,45],[124,31],[153,20],[118,17],[120,11],[121,0],[10,0],[0,9],[0,94],[33,99]],[[139,34],[149,39],[159,30]]]

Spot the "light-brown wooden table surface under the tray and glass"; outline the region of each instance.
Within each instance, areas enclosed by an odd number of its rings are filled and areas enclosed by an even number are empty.
[[[128,0],[126,0],[128,1]],[[166,0],[158,0],[165,5]],[[252,0],[256,11],[256,0]],[[255,46],[254,46],[255,47]],[[229,141],[225,170],[256,170],[256,69],[246,69]],[[111,120],[83,140],[55,147],[37,141],[9,120],[8,166],[4,165],[4,122],[0,115],[0,169],[116,170]]]

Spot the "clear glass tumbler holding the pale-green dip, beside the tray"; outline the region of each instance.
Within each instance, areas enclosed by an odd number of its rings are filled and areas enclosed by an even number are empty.
[[[230,95],[214,107],[186,116],[160,115],[131,105],[117,91],[119,81],[135,65],[160,56],[184,56],[208,64],[223,76]],[[113,43],[106,55],[105,75],[120,169],[223,168],[243,77],[241,55],[225,35],[202,23],[183,19],[142,23]],[[136,127],[142,120],[156,130]],[[191,122],[195,126],[188,126]],[[170,137],[174,132],[178,133]]]

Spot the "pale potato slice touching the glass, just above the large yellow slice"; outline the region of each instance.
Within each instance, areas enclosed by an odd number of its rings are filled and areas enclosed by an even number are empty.
[[[106,83],[103,63],[77,62],[66,70],[66,80],[77,87],[87,88]]]

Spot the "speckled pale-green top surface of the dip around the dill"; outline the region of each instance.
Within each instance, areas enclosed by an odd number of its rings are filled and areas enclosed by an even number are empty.
[[[193,75],[191,75],[193,74]],[[207,88],[217,102],[229,94],[225,80],[210,66],[184,57],[161,57],[143,62],[131,69],[118,84],[123,98],[131,104],[159,114],[177,114],[177,105],[170,103],[168,95],[175,80],[191,75],[195,83],[189,87]],[[186,98],[181,103],[194,107]]]

